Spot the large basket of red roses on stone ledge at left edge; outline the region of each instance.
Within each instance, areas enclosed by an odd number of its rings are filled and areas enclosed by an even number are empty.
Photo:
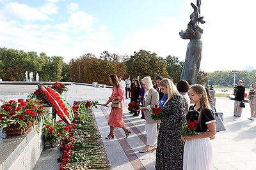
[[[3,101],[0,108],[0,128],[3,132],[17,127],[21,133],[31,125],[38,125],[47,110],[38,101],[19,99],[18,101]]]

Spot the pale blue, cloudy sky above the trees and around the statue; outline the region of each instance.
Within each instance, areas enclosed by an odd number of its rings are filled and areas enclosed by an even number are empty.
[[[190,3],[195,0],[0,0],[0,47],[70,59],[103,51],[186,57]],[[205,24],[200,68],[254,67],[255,0],[202,0]],[[256,67],[255,67],[256,68]]]

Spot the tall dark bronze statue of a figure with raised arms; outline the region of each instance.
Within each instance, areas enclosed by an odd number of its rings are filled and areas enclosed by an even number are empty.
[[[180,79],[187,80],[189,85],[196,83],[200,62],[202,58],[202,38],[203,29],[198,24],[204,24],[204,17],[200,17],[200,5],[201,0],[196,0],[196,5],[191,3],[194,11],[190,15],[190,21],[188,23],[188,29],[186,31],[180,31],[180,38],[190,39],[186,52],[186,59]]]

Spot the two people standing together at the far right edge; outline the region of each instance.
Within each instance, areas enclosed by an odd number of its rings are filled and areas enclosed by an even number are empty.
[[[234,117],[241,117],[243,107],[241,107],[241,103],[244,103],[244,94],[245,94],[245,88],[243,87],[243,81],[238,81],[238,86],[234,89],[234,95],[235,95],[235,103],[234,103]],[[253,88],[250,89],[249,92],[249,104],[251,109],[251,117],[248,118],[250,120],[256,120],[256,82],[253,83]]]

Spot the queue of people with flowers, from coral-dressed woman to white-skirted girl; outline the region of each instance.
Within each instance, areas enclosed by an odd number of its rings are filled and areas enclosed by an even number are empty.
[[[124,129],[127,138],[131,131],[124,126],[122,117],[124,90],[116,74],[111,74],[109,81],[113,85],[113,92],[102,106],[107,106],[114,99],[122,104],[121,108],[111,108],[108,122],[110,132],[106,139],[114,138],[115,127]],[[140,80],[138,82],[137,86]],[[186,80],[180,80],[176,87],[172,80],[161,76],[157,76],[155,88],[150,76],[143,78],[141,85],[145,90],[143,96],[139,95],[142,106],[137,111],[144,113],[147,142],[140,153],[150,151],[150,147],[157,143],[156,169],[211,169],[213,161],[210,139],[214,139],[216,120],[205,88],[202,85],[189,87]],[[161,97],[160,92],[163,93]],[[190,106],[190,101],[195,104]],[[151,118],[152,108],[156,104],[164,113],[161,120]],[[194,120],[198,121],[195,136],[182,136],[182,127]],[[157,124],[160,125],[158,134]]]

